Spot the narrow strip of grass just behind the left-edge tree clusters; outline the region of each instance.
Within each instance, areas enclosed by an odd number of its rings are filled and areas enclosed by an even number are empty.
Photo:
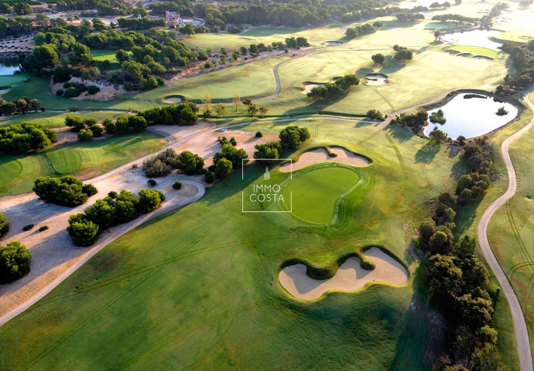
[[[86,118],[94,118],[97,119],[98,122],[102,122],[104,119],[116,119],[119,116],[129,116],[130,113],[124,112],[124,113],[113,113],[113,112],[101,112],[101,111],[94,111],[94,112],[74,112],[70,113],[74,115],[81,116],[82,119]],[[11,116],[7,120],[0,121],[0,127],[6,127],[10,126],[12,123],[21,123],[24,121],[32,121],[40,123],[42,126],[46,128],[59,128],[59,127],[65,127],[65,117],[67,116],[67,113],[57,113],[57,112],[31,112],[26,114],[19,114]]]

